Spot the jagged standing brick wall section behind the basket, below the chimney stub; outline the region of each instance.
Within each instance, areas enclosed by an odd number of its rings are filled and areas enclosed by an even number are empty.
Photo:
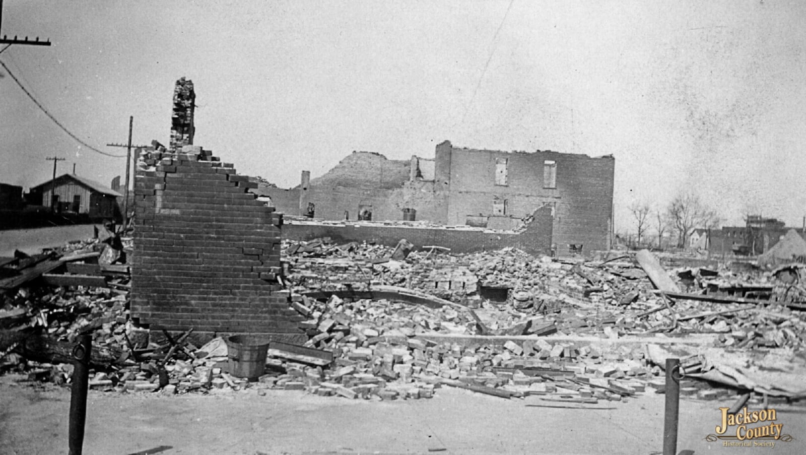
[[[209,151],[147,151],[135,177],[131,315],[150,328],[300,333],[280,273],[282,215]]]

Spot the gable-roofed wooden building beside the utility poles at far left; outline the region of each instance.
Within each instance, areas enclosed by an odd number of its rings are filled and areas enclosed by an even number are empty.
[[[34,186],[28,193],[31,204],[52,208],[57,213],[87,215],[90,219],[119,219],[118,198],[123,195],[89,178],[69,173]]]

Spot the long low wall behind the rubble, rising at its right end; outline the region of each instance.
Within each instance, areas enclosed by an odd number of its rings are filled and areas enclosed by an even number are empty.
[[[394,246],[399,240],[405,239],[418,248],[438,245],[451,248],[452,253],[513,247],[532,254],[549,254],[553,224],[552,208],[544,206],[534,212],[534,220],[522,232],[492,232],[461,227],[409,227],[383,223],[287,223],[283,226],[283,237],[291,240],[330,237],[334,241],[367,241],[388,246]]]

